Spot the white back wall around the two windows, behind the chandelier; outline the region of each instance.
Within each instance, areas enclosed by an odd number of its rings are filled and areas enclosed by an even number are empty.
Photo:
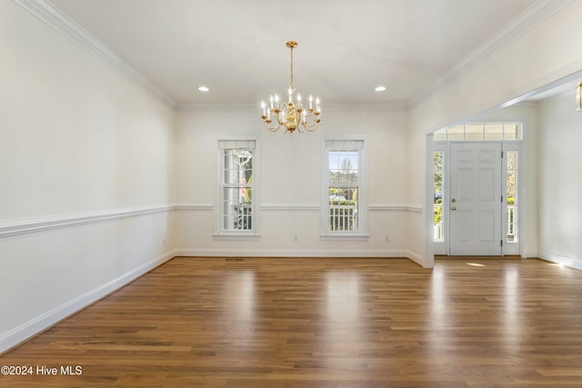
[[[376,107],[326,107],[315,133],[270,133],[256,107],[183,110],[178,113],[178,252],[181,254],[411,256],[407,218],[414,213],[406,192],[406,111]],[[256,135],[260,171],[253,192],[260,198],[260,237],[213,236],[217,187],[216,139]],[[321,153],[326,135],[362,134],[368,154],[368,233],[366,241],[320,237]],[[390,242],[386,243],[386,234]],[[297,235],[298,242],[293,241]]]

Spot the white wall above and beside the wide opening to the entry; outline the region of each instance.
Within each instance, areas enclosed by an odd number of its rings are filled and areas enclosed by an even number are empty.
[[[565,4],[537,24],[512,37],[507,45],[484,54],[487,59],[444,83],[410,109],[411,149],[426,150],[426,134],[500,106],[520,95],[582,69],[579,17],[582,0]],[[419,158],[420,159],[420,158]],[[431,194],[426,179],[426,151],[422,160],[411,157],[410,193],[414,203],[425,204]],[[425,265],[434,258],[428,234],[431,214],[411,219],[411,246]]]

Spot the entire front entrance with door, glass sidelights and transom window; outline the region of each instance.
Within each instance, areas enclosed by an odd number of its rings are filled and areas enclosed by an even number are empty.
[[[522,123],[465,123],[434,134],[433,241],[437,255],[520,252]]]

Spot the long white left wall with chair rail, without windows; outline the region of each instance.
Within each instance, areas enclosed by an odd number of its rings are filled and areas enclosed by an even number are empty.
[[[171,257],[176,113],[10,1],[0,58],[2,352]]]

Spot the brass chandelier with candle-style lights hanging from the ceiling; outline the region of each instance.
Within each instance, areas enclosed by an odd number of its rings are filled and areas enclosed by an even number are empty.
[[[295,95],[293,86],[293,49],[298,44],[290,40],[286,46],[291,49],[291,85],[289,86],[288,102],[279,101],[278,95],[269,95],[269,103],[261,102],[263,108],[263,122],[266,128],[271,132],[276,132],[279,128],[285,127],[286,133],[294,134],[295,131],[303,133],[305,131],[316,131],[321,122],[321,107],[319,106],[319,97],[316,97],[315,107],[313,96],[309,95],[308,104],[304,106],[301,95]],[[273,123],[275,121],[275,123]],[[271,125],[273,123],[273,125]]]

